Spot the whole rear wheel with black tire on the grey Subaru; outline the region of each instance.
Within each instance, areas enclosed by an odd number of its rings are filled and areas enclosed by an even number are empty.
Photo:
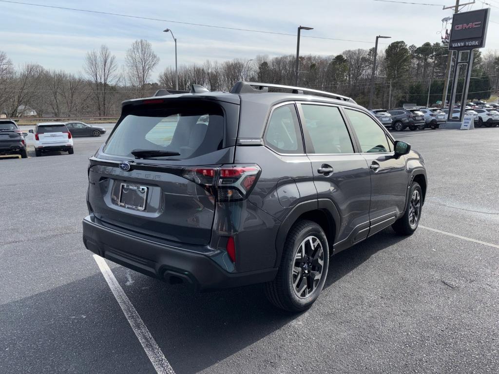
[[[301,261],[303,258],[305,261]],[[329,247],[324,230],[313,221],[296,222],[287,234],[277,275],[265,284],[268,300],[289,312],[307,310],[324,287],[328,265]]]

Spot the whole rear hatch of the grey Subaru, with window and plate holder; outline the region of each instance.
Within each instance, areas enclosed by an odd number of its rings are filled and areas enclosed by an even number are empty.
[[[212,181],[216,168],[234,161],[238,118],[239,105],[213,100],[125,105],[107,143],[90,159],[89,209],[126,230],[209,243]]]

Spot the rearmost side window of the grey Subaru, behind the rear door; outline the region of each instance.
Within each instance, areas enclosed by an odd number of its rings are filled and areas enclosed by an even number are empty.
[[[303,142],[294,104],[275,108],[268,121],[265,144],[278,153],[303,153]]]

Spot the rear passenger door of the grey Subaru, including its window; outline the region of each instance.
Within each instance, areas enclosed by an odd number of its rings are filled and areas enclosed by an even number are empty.
[[[367,237],[370,171],[356,153],[338,106],[301,103],[299,112],[319,208],[334,205],[341,222],[334,243],[337,252]]]

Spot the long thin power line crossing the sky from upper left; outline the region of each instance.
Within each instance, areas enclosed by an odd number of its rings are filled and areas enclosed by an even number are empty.
[[[52,9],[81,11],[81,12],[87,12],[87,13],[115,15],[115,16],[119,16],[119,17],[146,19],[146,20],[150,20],[150,21],[179,23],[179,24],[186,24],[186,25],[191,25],[191,26],[213,27],[213,28],[221,28],[221,29],[225,29],[225,30],[237,30],[237,31],[247,31],[247,32],[258,32],[258,33],[262,33],[262,34],[296,36],[296,34],[289,34],[289,33],[285,33],[285,32],[275,32],[275,31],[266,31],[266,30],[255,30],[255,29],[250,29],[250,28],[217,26],[217,25],[211,25],[211,24],[206,24],[206,23],[193,23],[193,22],[174,21],[174,20],[171,20],[171,19],[141,17],[141,16],[138,16],[138,15],[121,14],[121,13],[111,13],[111,12],[105,12],[105,11],[99,11],[99,10],[90,10],[90,9],[70,8],[70,7],[66,7],[66,6],[43,5],[43,4],[34,4],[34,3],[30,3],[30,2],[11,1],[11,0],[0,0],[0,2],[7,2],[7,3],[12,3],[12,4],[18,4],[18,5],[39,6],[39,7],[52,8]],[[313,39],[337,40],[337,41],[353,41],[353,42],[358,42],[358,43],[370,43],[370,44],[374,44],[374,41],[353,40],[353,39],[339,39],[339,38],[330,38],[330,37],[326,37],[326,36],[301,35],[301,37],[307,37],[307,38],[313,38]],[[383,44],[386,44],[386,43],[383,43]]]

